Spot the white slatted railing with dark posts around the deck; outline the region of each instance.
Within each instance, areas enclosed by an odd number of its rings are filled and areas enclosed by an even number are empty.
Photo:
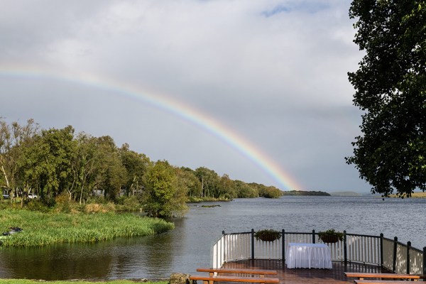
[[[315,230],[310,233],[281,232],[275,241],[260,241],[254,238],[254,230],[243,233],[225,234],[212,246],[212,267],[222,267],[230,261],[249,259],[276,259],[285,262],[285,250],[289,243],[322,243]],[[426,247],[415,249],[410,241],[402,244],[398,238],[347,234],[344,239],[330,248],[332,261],[372,264],[387,268],[395,273],[426,274]]]

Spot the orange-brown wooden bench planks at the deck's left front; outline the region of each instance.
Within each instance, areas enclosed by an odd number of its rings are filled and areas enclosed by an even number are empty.
[[[264,269],[240,269],[240,268],[197,268],[197,272],[208,272],[209,275],[190,275],[190,280],[202,280],[204,284],[214,282],[247,282],[247,283],[280,283],[278,278],[268,278],[265,275],[277,275],[277,271]],[[235,275],[215,275],[217,273],[258,275],[258,277],[241,277]]]

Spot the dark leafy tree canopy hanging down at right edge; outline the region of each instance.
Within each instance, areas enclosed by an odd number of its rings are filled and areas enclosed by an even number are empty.
[[[354,42],[365,51],[349,72],[363,135],[354,164],[371,192],[401,197],[426,190],[426,2],[354,0]]]

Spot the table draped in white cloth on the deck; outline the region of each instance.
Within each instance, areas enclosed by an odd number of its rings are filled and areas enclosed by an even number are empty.
[[[325,244],[289,243],[287,268],[333,268],[330,249]]]

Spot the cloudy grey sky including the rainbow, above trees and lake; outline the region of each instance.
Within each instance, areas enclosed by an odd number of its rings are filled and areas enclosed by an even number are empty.
[[[281,190],[368,193],[348,0],[3,0],[0,116]]]

